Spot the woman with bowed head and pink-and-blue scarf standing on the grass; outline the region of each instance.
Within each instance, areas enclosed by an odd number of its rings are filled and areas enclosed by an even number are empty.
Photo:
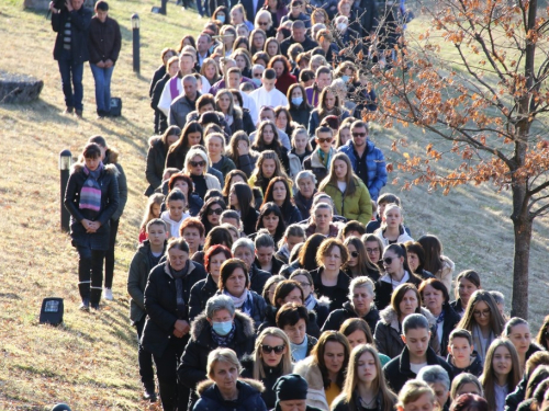
[[[85,163],[76,163],[65,192],[65,207],[70,213],[70,237],[78,250],[78,288],[80,309],[99,309],[103,289],[103,261],[109,249],[110,219],[119,207],[117,169],[103,165],[101,148],[88,144]]]

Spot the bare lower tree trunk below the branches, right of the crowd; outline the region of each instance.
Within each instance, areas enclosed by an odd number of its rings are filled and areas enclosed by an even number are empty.
[[[533,219],[526,199],[526,183],[513,187],[514,213],[511,216],[515,230],[513,261],[513,297],[511,316],[528,319],[528,265],[530,259]]]

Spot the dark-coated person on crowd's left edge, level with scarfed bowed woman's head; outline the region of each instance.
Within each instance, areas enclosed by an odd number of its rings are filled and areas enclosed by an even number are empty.
[[[181,128],[178,126],[169,126],[161,137],[149,138],[147,167],[145,169],[145,176],[149,184],[148,189],[145,191],[147,197],[153,195],[155,190],[161,185],[168,149],[179,139],[180,135]]]

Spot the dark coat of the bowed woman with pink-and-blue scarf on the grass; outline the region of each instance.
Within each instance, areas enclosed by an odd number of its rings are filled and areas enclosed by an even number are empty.
[[[70,213],[70,237],[72,246],[91,246],[94,250],[109,249],[110,219],[119,208],[119,170],[113,164],[104,165],[98,183],[101,186],[101,207],[99,213],[90,209],[80,209],[80,191],[88,179],[83,163],[72,165],[71,173],[65,191],[65,208]],[[88,233],[83,228],[82,219],[99,221],[101,227]]]

